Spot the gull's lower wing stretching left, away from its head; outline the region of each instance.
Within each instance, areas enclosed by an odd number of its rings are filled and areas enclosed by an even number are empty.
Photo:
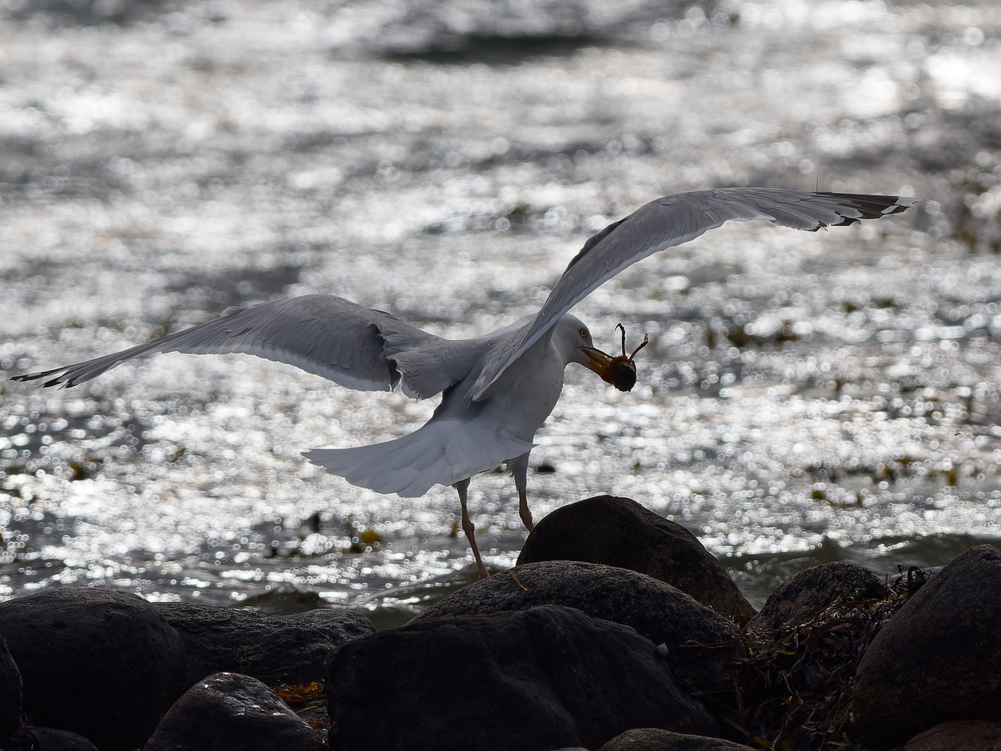
[[[330,294],[265,302],[223,313],[207,323],[120,352],[52,370],[15,376],[14,381],[50,378],[43,386],[76,386],[125,360],[156,352],[223,354],[246,352],[287,362],[359,391],[389,391],[431,397],[457,378],[452,342]],[[458,363],[461,369],[461,362]]]

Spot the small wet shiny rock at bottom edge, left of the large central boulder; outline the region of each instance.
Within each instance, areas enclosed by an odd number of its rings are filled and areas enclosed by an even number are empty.
[[[170,708],[144,751],[322,751],[318,731],[256,678],[216,673]]]

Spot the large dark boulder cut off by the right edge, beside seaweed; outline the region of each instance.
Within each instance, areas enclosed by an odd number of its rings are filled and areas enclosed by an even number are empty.
[[[1001,720],[1001,551],[970,548],[928,580],[876,635],[852,709],[894,747],[949,720]]]

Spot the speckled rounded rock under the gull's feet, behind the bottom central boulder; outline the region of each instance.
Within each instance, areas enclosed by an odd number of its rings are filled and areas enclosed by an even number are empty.
[[[592,618],[632,626],[668,650],[668,663],[683,683],[700,691],[732,684],[737,627],[726,618],[657,579],[627,569],[545,561],[500,572],[463,587],[410,623],[460,615],[527,610],[540,605],[577,608]],[[679,649],[682,644],[694,645]]]

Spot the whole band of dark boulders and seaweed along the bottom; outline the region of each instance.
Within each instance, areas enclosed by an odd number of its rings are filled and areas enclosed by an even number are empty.
[[[2,603],[0,748],[985,751],[999,622],[989,545],[933,576],[821,564],[755,613],[691,533],[601,496],[378,633],[103,589]]]

